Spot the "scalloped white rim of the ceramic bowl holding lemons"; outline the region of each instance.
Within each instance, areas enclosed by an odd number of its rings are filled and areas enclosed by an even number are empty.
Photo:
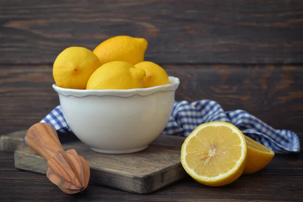
[[[177,77],[169,76],[169,84],[160,85],[149,88],[134,88],[134,89],[106,89],[106,90],[86,90],[86,89],[71,89],[62,88],[53,84],[54,90],[63,96],[85,97],[85,96],[117,96],[131,97],[134,95],[147,96],[157,92],[176,91],[180,84]]]

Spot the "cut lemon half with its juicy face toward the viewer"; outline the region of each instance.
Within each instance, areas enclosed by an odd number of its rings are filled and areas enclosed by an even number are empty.
[[[201,124],[182,144],[181,164],[199,183],[208,186],[232,183],[246,165],[245,137],[227,122]]]

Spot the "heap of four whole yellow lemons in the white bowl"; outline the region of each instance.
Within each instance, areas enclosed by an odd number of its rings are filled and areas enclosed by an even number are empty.
[[[68,47],[56,58],[53,76],[57,86],[72,89],[133,89],[169,84],[166,71],[144,61],[144,38],[115,36],[93,51]]]

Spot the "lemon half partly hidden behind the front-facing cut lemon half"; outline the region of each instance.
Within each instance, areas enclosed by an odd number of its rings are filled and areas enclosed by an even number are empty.
[[[266,146],[245,136],[247,144],[247,164],[243,174],[252,174],[265,168],[275,156]]]

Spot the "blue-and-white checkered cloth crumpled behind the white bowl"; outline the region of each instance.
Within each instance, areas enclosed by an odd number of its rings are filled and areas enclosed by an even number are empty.
[[[277,154],[299,153],[298,136],[289,130],[276,130],[243,110],[224,112],[213,100],[198,100],[189,103],[175,102],[172,115],[162,135],[188,136],[198,125],[225,121],[239,128],[243,134],[271,148]],[[58,132],[71,132],[61,106],[56,107],[40,122],[51,124]]]

